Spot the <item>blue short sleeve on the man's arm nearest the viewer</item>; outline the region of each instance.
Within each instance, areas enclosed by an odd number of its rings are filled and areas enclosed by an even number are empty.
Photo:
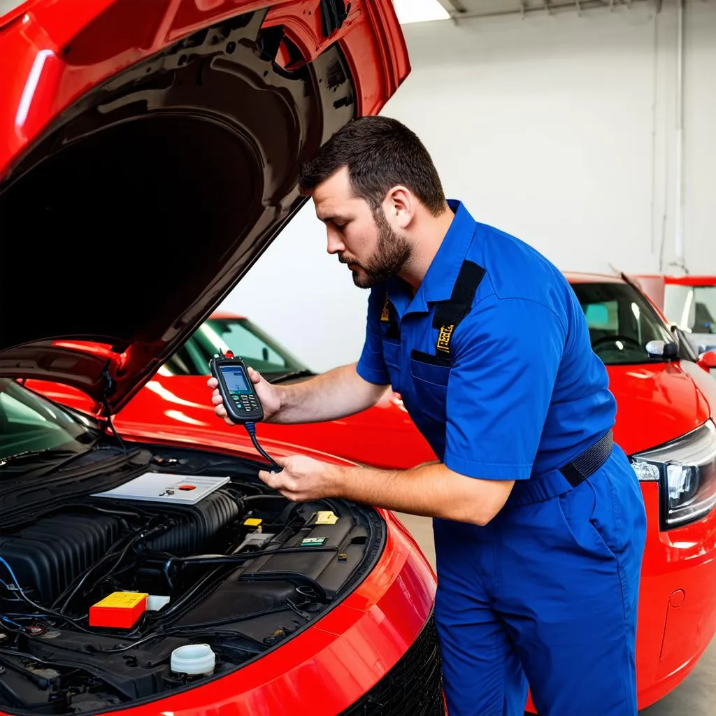
[[[491,296],[453,337],[444,463],[485,480],[532,472],[566,342],[558,315]]]

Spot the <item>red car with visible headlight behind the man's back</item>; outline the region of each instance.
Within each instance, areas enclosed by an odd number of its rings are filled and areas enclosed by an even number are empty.
[[[716,632],[715,354],[620,277],[569,274],[616,397],[614,439],[642,481],[647,544],[637,628],[639,708],[673,690]]]

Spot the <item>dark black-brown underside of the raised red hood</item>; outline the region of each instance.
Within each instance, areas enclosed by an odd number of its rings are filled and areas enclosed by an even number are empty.
[[[89,62],[80,40],[67,62]],[[301,162],[358,111],[339,44],[304,64],[266,10],[91,89],[0,183],[0,377],[117,412],[298,210]]]

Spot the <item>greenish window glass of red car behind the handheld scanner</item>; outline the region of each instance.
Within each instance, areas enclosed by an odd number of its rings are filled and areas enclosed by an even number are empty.
[[[160,369],[163,375],[209,375],[208,362],[218,349],[231,350],[267,379],[308,371],[299,359],[248,319],[211,318]]]

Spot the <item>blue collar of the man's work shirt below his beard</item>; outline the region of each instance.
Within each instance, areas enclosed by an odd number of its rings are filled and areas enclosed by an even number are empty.
[[[397,276],[388,281],[390,301],[401,316],[419,311],[427,313],[429,301],[447,301],[453,293],[477,223],[461,201],[448,199],[448,206],[455,216],[412,301],[405,281]]]

